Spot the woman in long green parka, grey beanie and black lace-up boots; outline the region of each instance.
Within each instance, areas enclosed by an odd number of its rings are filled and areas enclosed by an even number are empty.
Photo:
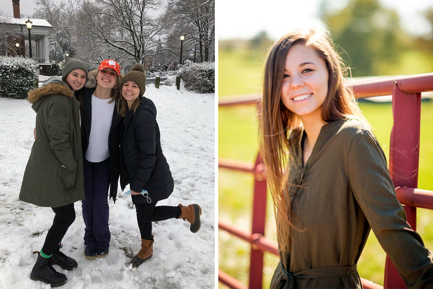
[[[24,172],[19,199],[55,213],[52,227],[38,253],[30,278],[52,287],[66,283],[65,274],[52,264],[73,270],[78,264],[60,249],[61,239],[75,220],[74,202],[84,199],[83,156],[80,134],[80,103],[74,92],[83,88],[87,67],[67,58],[62,77],[54,76],[41,88],[29,91],[36,112],[36,135]]]

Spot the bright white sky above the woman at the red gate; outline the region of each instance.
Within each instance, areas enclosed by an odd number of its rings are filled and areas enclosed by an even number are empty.
[[[338,9],[347,0],[329,0]],[[410,33],[430,32],[421,13],[430,1],[380,0],[386,7],[394,7],[400,14],[402,27]],[[272,39],[288,31],[318,23],[320,0],[265,0],[260,5],[253,1],[216,0],[216,33],[218,39],[250,39],[265,30]],[[430,4],[430,5],[433,5]]]

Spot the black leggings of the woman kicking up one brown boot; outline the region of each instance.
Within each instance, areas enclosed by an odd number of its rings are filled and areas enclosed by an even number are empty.
[[[152,240],[152,222],[179,218],[182,212],[179,207],[155,206],[156,202],[136,204],[137,222],[142,239]]]

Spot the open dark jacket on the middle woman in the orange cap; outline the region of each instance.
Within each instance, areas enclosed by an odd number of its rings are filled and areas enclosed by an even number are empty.
[[[83,157],[89,146],[90,126],[92,123],[92,94],[96,88],[95,76],[97,71],[89,72],[89,81],[82,91],[81,100],[81,144]],[[123,117],[117,113],[117,104],[114,104],[113,119],[111,120],[110,132],[108,134],[108,151],[110,153],[111,179],[110,198],[116,203],[117,187],[120,175],[120,134],[123,130]],[[86,176],[84,176],[86,178]]]

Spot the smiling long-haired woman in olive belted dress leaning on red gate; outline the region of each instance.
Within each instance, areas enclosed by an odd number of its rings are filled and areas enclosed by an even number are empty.
[[[406,222],[343,68],[316,29],[268,52],[259,128],[280,251],[271,288],[362,288],[356,263],[370,229],[408,288],[433,288],[433,254]]]

